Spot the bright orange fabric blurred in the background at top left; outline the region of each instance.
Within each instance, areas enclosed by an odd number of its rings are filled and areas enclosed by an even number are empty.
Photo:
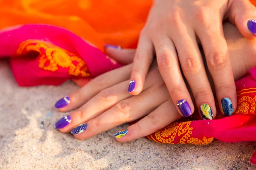
[[[104,51],[136,47],[151,0],[0,0],[0,29],[27,23],[66,28]]]

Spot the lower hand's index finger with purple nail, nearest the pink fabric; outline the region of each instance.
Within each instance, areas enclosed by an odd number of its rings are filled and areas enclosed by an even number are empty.
[[[131,75],[131,68],[132,64],[126,65],[122,68],[117,68],[94,78],[84,87],[58,100],[55,103],[55,107],[63,112],[79,108],[103,89],[129,79]]]

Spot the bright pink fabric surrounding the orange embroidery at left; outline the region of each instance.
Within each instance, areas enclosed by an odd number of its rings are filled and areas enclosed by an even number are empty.
[[[45,71],[38,67],[39,57],[14,57],[23,41],[41,40],[78,55],[87,64],[91,77],[121,67],[109,59],[98,48],[70,31],[49,25],[23,25],[0,31],[0,57],[12,57],[11,68],[17,83],[21,86],[60,85],[75,78],[67,69]]]

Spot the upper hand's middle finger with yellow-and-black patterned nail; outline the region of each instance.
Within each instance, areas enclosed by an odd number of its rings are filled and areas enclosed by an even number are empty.
[[[198,48],[195,32],[192,29],[186,29],[186,26],[184,26],[177,30],[177,34],[172,39],[177,48],[180,65],[191,88],[198,111],[200,111],[203,119],[213,119],[216,115],[214,96]]]

